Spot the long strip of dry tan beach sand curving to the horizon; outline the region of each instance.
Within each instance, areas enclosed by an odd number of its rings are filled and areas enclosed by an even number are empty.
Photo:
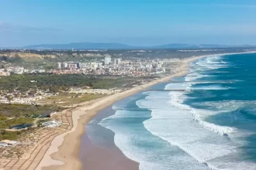
[[[255,52],[251,52],[255,53]],[[234,55],[241,53],[223,53],[216,55]],[[69,170],[69,169],[81,169],[81,160],[78,157],[79,149],[81,146],[81,137],[85,134],[85,124],[88,123],[94,117],[99,110],[102,110],[109,105],[113,104],[117,100],[121,100],[125,97],[132,95],[133,93],[137,93],[140,90],[147,89],[147,87],[151,87],[156,83],[161,83],[174,78],[175,76],[183,76],[188,72],[189,64],[197,59],[201,59],[204,57],[214,56],[214,54],[207,56],[192,56],[190,58],[185,59],[182,62],[182,66],[177,68],[176,73],[165,76],[161,79],[151,81],[149,83],[142,84],[138,87],[133,87],[130,90],[123,91],[121,93],[115,93],[108,97],[103,97],[98,100],[92,100],[88,102],[85,106],[78,106],[72,111],[72,121],[73,128],[71,131],[67,131],[64,134],[61,134],[54,138],[52,141],[50,148],[48,148],[46,154],[43,156],[42,161],[37,166],[36,169],[43,170]]]

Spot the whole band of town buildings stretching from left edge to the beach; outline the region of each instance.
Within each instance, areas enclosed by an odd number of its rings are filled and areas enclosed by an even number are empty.
[[[113,75],[113,76],[151,76],[166,72],[165,66],[170,68],[180,59],[112,59],[106,55],[102,60],[88,63],[63,62],[56,63],[56,69],[25,69],[21,66],[9,66],[0,70],[0,76],[9,76],[10,73],[54,73],[54,74],[79,74],[85,75]],[[169,71],[168,69],[167,71]]]

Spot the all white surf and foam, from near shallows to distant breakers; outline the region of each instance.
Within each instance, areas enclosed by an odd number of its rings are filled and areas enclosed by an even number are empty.
[[[198,67],[199,71],[228,66],[228,63],[220,59],[222,56],[211,56],[192,65]],[[190,75],[192,76],[185,76],[186,83],[170,83],[165,89],[226,90],[228,88],[216,85],[193,87],[193,84],[199,83],[195,80],[205,75],[200,73]],[[144,94],[148,96],[143,100],[138,100],[136,104],[140,108],[151,110],[151,118],[144,111],[129,111],[115,107],[116,114],[100,123],[115,132],[116,146],[128,158],[140,162],[140,170],[256,169],[253,162],[241,161],[239,158],[237,158],[239,161],[236,161],[234,155],[239,155],[240,145],[223,135],[237,134],[235,128],[204,121],[205,117],[217,114],[217,112],[198,110],[183,104],[187,97],[184,92],[180,91],[171,91],[171,93],[150,91]],[[232,103],[218,107],[218,104],[214,105],[213,102],[213,107],[216,106],[220,110],[223,108],[228,110],[230,105]],[[230,109],[235,109],[235,107]],[[147,131],[141,128],[141,124],[123,123],[131,118],[147,119],[143,122]],[[149,132],[155,137],[152,137]],[[170,145],[164,145],[164,141]],[[195,160],[200,164],[195,163]]]

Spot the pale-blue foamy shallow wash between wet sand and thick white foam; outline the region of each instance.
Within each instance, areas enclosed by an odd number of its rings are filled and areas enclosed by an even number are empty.
[[[136,119],[134,119],[135,122],[129,121],[130,123],[124,124],[123,121],[131,118],[130,114],[137,118],[149,118],[150,116],[148,111],[134,112],[122,109],[116,110],[116,116],[107,117],[100,124],[114,131],[116,146],[127,158],[140,162],[140,170],[207,169],[206,166],[195,162],[180,149],[164,144],[164,141],[154,137],[141,122],[136,124]],[[182,164],[177,164],[177,162],[182,162]]]

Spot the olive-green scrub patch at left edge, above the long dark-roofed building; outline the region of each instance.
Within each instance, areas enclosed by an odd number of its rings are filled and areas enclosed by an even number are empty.
[[[63,109],[62,107],[52,105],[0,104],[0,119],[1,117],[25,117],[33,114],[49,114]]]

